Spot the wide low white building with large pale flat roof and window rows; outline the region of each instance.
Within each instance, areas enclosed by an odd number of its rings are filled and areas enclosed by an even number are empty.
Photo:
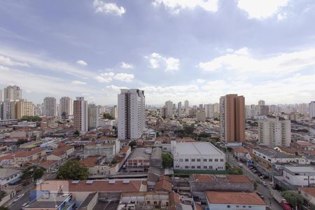
[[[209,142],[172,141],[174,169],[225,170],[225,154]]]

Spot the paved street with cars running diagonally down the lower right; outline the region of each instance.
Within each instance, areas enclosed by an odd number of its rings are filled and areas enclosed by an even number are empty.
[[[228,157],[230,156],[230,157]],[[227,158],[226,160],[228,160],[230,162],[230,165],[232,165],[233,167],[239,167],[239,163],[241,162],[237,162],[237,160],[235,160],[235,158],[233,158],[232,155],[227,154]],[[276,200],[274,200],[274,198],[271,195],[271,186],[263,186],[262,184],[260,184],[260,178],[257,176],[257,174],[254,174],[251,169],[248,169],[248,167],[246,167],[246,165],[243,164],[243,174],[246,175],[248,177],[248,179],[251,179],[251,181],[258,181],[258,187],[257,187],[257,191],[262,193],[262,195],[264,196],[264,200],[267,203],[267,205],[269,206],[270,209],[272,210],[281,210],[282,208],[280,207],[280,205],[278,204],[278,202],[276,202]],[[269,181],[266,181],[267,183]],[[268,183],[269,184],[269,183]]]

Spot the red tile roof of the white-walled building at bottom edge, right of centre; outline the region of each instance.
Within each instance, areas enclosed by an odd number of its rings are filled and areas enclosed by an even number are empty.
[[[257,193],[207,191],[206,195],[210,204],[266,205]]]

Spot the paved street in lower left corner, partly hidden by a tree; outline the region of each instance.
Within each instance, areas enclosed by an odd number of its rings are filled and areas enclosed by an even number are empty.
[[[56,174],[44,174],[43,178],[44,180],[49,180],[49,179],[56,179]],[[35,188],[34,183],[30,183],[28,186],[23,186],[23,190],[21,190],[18,195],[21,195],[24,193],[25,195],[18,200],[18,202],[12,203],[13,200],[10,200],[6,205],[8,206],[9,209],[12,210],[18,210],[22,209],[22,205],[25,204],[26,202],[29,202],[29,191],[33,190]]]

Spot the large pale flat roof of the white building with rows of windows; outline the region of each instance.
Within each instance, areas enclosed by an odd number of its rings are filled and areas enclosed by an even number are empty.
[[[180,155],[224,155],[223,152],[209,142],[176,143],[175,152]]]

